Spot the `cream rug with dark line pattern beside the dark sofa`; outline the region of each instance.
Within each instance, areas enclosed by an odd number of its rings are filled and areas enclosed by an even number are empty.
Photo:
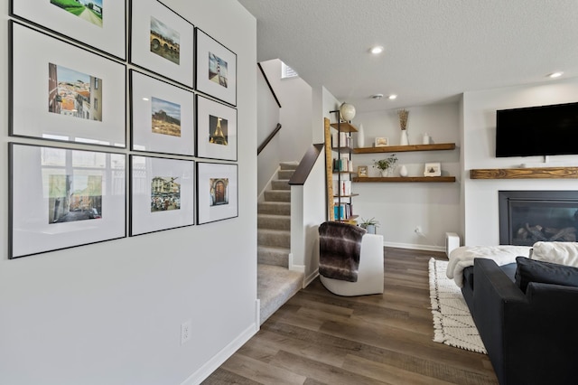
[[[433,341],[487,354],[461,289],[445,276],[447,261],[430,259]]]

